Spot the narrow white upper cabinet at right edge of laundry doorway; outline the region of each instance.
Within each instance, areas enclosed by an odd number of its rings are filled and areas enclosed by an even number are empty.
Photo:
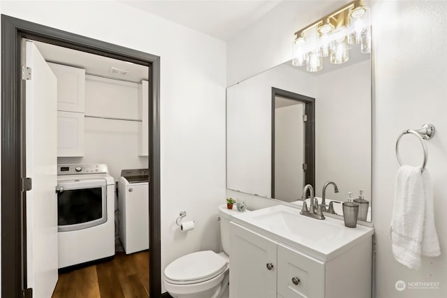
[[[138,155],[149,155],[149,82],[143,80],[138,87]]]

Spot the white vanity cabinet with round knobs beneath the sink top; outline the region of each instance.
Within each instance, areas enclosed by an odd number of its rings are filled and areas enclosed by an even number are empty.
[[[230,264],[231,298],[371,297],[371,238],[323,261],[231,223]]]

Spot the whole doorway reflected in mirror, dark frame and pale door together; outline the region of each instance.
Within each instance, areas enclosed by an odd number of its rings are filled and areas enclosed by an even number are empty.
[[[272,198],[301,200],[315,185],[314,98],[272,88]]]

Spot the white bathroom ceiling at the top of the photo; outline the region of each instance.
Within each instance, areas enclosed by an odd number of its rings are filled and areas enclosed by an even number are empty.
[[[122,0],[185,27],[229,40],[282,0]]]

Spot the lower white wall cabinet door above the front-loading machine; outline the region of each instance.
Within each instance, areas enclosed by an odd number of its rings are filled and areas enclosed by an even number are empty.
[[[84,113],[57,111],[57,156],[84,156]]]

